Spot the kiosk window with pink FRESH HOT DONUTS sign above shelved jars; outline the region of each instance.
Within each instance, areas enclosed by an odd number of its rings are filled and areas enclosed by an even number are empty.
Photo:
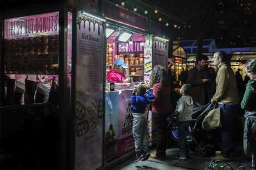
[[[58,12],[4,20],[7,73],[57,74]]]

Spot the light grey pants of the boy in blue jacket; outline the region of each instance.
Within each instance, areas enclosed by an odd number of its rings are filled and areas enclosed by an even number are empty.
[[[135,117],[133,115],[132,135],[136,153],[148,153],[148,133],[146,117]]]

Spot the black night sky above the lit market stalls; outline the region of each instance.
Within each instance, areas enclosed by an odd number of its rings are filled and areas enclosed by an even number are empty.
[[[214,38],[217,47],[256,46],[256,0],[146,0],[182,19],[176,38]],[[204,30],[204,31],[203,31]]]

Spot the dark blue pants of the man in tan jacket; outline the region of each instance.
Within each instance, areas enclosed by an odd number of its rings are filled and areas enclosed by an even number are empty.
[[[236,114],[239,111],[239,104],[220,104],[218,105],[218,107],[221,111],[220,120],[222,125],[222,127],[220,128],[220,136],[222,140],[221,155],[223,157],[229,157],[230,153],[233,151],[233,124],[236,118]]]

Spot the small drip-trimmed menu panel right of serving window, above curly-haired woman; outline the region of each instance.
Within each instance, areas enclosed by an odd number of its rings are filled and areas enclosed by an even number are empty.
[[[167,68],[168,41],[153,37],[153,66],[161,65]]]

